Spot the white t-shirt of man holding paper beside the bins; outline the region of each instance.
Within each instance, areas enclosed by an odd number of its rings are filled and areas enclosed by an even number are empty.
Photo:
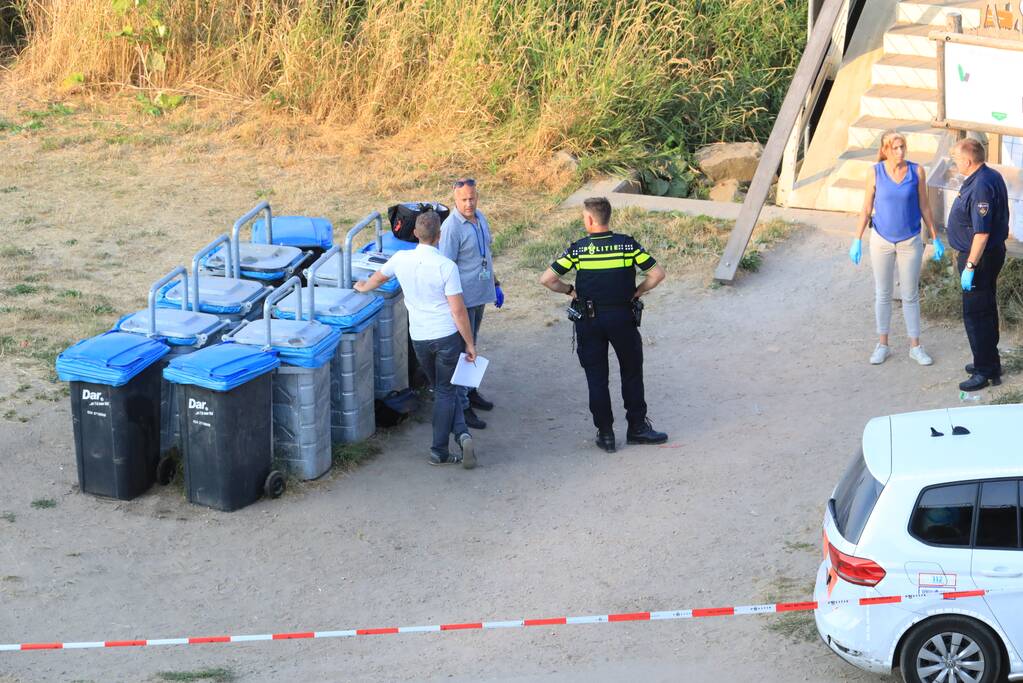
[[[461,293],[458,267],[436,246],[418,244],[398,252],[380,272],[398,277],[408,309],[408,334],[413,340],[442,339],[458,331],[447,301]]]

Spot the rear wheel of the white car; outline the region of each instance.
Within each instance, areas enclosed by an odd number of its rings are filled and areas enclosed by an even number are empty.
[[[909,632],[899,666],[906,683],[994,683],[1002,650],[978,622],[937,617]]]

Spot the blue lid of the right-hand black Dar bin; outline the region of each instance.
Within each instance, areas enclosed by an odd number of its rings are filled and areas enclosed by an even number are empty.
[[[280,366],[273,351],[241,344],[221,343],[193,354],[177,356],[164,368],[164,379],[229,392]]]

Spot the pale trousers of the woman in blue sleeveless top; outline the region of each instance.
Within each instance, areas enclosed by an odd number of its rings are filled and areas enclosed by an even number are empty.
[[[878,334],[888,334],[892,318],[892,290],[898,268],[902,292],[902,317],[910,338],[920,336],[920,267],[924,261],[924,240],[920,234],[892,243],[871,231],[871,267],[874,269],[874,314]]]

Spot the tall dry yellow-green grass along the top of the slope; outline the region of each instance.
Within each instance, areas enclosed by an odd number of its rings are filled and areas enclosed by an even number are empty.
[[[3,0],[0,0],[2,3]],[[14,75],[217,92],[602,166],[764,138],[804,0],[6,0]]]

